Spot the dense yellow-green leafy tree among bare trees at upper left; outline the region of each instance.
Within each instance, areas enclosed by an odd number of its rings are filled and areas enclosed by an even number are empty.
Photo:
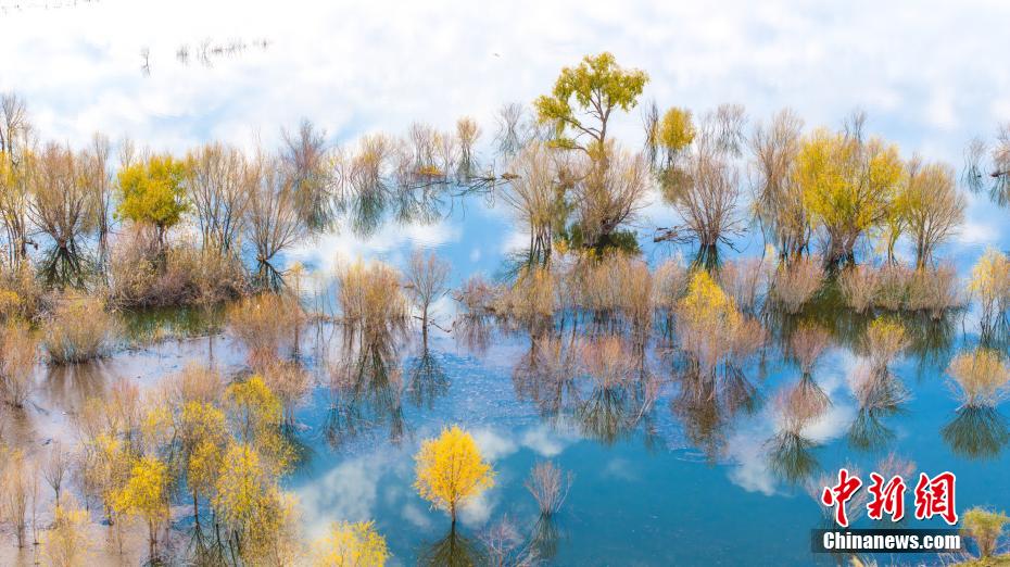
[[[157,242],[179,223],[188,210],[185,189],[186,164],[172,155],[152,155],[119,171],[121,218],[154,227]]]

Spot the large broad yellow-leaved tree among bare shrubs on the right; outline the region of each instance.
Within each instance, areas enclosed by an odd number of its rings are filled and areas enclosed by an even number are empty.
[[[897,147],[863,140],[859,129],[820,128],[803,140],[793,181],[811,225],[824,231],[829,266],[855,262],[856,241],[887,218],[902,174]]]

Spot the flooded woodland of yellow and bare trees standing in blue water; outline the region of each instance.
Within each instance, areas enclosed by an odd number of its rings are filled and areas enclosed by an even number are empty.
[[[131,80],[283,49],[244,37]],[[1010,123],[936,159],[656,80],[171,150],[0,80],[0,563],[1006,559]],[[812,554],[841,468],[955,472],[964,550]]]

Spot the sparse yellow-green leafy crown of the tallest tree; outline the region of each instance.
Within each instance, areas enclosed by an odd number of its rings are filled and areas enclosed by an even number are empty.
[[[633,109],[647,81],[644,71],[621,68],[610,53],[585,55],[578,66],[563,68],[551,94],[538,98],[533,106],[540,122],[553,127],[558,147],[598,158],[614,109]]]

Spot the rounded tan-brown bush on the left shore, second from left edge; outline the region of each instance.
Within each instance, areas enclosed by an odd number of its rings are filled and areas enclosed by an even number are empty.
[[[100,358],[112,350],[116,323],[98,298],[67,294],[58,300],[42,343],[52,364]]]

